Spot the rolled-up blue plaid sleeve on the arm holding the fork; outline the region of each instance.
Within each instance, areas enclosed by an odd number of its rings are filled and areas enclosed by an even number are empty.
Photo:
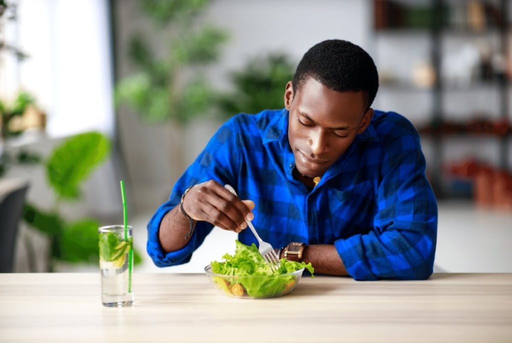
[[[165,267],[187,263],[211,232],[214,225],[205,221],[198,222],[189,242],[183,248],[170,253],[163,250],[159,239],[163,217],[179,205],[181,195],[188,187],[208,180],[216,180],[222,185],[233,183],[234,174],[239,170],[240,164],[240,152],[236,148],[239,131],[236,117],[226,122],[211,138],[196,161],[178,179],[169,200],[157,209],[148,222],[146,250],[155,265]]]

